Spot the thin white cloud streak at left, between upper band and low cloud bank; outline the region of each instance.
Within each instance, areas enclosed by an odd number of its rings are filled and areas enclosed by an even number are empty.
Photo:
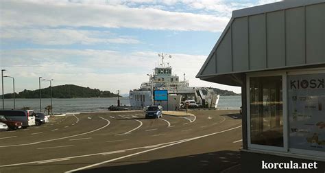
[[[98,43],[139,44],[140,41],[107,31],[73,29],[1,28],[0,39],[30,41],[38,45],[93,45]]]

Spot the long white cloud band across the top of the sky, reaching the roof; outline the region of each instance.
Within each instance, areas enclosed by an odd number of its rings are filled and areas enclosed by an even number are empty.
[[[220,32],[228,17],[189,12],[168,12],[125,5],[62,2],[1,2],[1,27],[71,26],[129,27],[145,30],[195,30]]]

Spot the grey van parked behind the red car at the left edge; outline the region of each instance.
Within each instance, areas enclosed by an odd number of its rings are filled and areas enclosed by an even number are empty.
[[[10,121],[23,123],[23,128],[35,126],[34,111],[32,110],[0,110],[0,115],[4,115]]]

